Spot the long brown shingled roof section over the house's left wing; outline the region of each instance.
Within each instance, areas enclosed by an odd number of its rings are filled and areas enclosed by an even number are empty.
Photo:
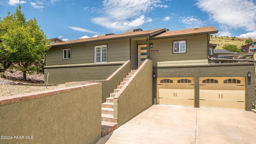
[[[83,43],[83,42],[89,42],[89,41],[100,41],[100,40],[108,40],[108,39],[115,39],[115,38],[122,38],[122,37],[140,36],[140,35],[152,36],[152,35],[155,35],[157,33],[163,32],[163,31],[165,32],[165,28],[164,29],[130,32],[130,33],[113,34],[113,35],[106,35],[106,36],[102,36],[102,37],[77,39],[77,40],[72,40],[72,41],[51,44],[50,46],[68,45],[68,44],[76,44],[76,43]]]

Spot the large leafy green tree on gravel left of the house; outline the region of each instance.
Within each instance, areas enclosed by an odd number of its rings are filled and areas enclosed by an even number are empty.
[[[13,63],[23,73],[36,71],[37,65],[44,59],[45,51],[50,49],[43,30],[36,18],[26,20],[19,5],[15,13],[0,18],[0,62]]]

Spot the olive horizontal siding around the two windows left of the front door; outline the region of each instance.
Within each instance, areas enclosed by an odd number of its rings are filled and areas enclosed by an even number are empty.
[[[129,39],[51,47],[46,52],[45,66],[94,64],[94,45],[107,45],[107,63],[130,59]],[[63,59],[63,49],[71,48],[71,59]]]

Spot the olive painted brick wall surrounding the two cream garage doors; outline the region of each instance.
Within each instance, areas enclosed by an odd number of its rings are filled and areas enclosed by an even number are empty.
[[[248,71],[251,77],[247,77]],[[252,109],[255,97],[255,67],[254,63],[207,64],[191,66],[153,67],[153,104],[157,104],[157,78],[194,77],[195,107],[199,107],[199,77],[245,77],[246,78],[246,110]]]

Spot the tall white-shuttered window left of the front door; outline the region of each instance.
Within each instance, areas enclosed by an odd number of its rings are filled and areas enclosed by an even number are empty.
[[[94,63],[107,63],[107,45],[94,46]]]

